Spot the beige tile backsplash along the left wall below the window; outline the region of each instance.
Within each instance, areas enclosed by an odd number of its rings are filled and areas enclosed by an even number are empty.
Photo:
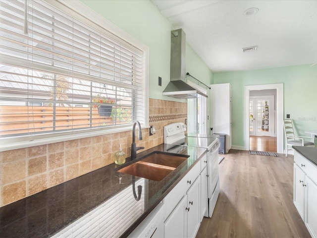
[[[163,126],[185,121],[187,103],[150,99],[149,129],[142,129],[145,149],[163,143]],[[120,132],[0,152],[0,207],[114,163],[119,143],[127,157],[132,132]],[[140,152],[140,151],[138,151]]]

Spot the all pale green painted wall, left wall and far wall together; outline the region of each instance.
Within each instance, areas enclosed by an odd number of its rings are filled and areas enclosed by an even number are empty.
[[[150,0],[82,0],[87,6],[122,28],[150,48],[150,98],[180,101],[162,96],[169,81],[171,23]],[[185,32],[186,33],[186,32]],[[186,44],[186,71],[206,84],[232,85],[232,145],[244,146],[244,86],[284,84],[284,115],[290,114],[301,135],[317,131],[317,66],[269,68],[250,71],[212,73]],[[158,86],[158,77],[162,86]],[[195,82],[188,78],[188,80]],[[184,101],[184,100],[183,100]],[[209,113],[209,105],[207,107]]]

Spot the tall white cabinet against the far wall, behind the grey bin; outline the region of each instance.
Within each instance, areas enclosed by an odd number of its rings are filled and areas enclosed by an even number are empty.
[[[225,152],[231,149],[231,85],[211,84],[212,133],[225,134]]]

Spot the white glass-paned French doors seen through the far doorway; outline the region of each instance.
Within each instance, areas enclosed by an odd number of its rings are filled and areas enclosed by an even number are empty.
[[[273,96],[250,97],[250,135],[273,136],[274,132]]]

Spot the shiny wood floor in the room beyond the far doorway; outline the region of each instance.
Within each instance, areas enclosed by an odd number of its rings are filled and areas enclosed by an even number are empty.
[[[250,150],[277,152],[277,137],[250,135]]]

